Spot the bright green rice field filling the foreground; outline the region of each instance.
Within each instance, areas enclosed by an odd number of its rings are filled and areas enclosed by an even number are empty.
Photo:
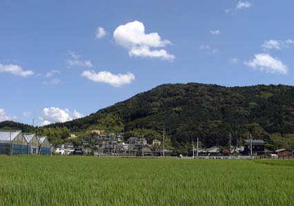
[[[293,165],[0,156],[0,205],[293,205]]]

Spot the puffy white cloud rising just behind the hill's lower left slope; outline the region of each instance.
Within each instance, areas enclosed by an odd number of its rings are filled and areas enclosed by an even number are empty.
[[[51,124],[51,122],[66,122],[74,120],[77,118],[84,117],[83,114],[79,113],[74,109],[70,111],[69,109],[60,109],[59,107],[48,107],[43,109],[43,116],[39,118],[43,120],[42,125]]]

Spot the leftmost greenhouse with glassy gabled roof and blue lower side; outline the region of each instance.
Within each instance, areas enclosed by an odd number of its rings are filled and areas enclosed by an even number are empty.
[[[19,155],[28,153],[28,144],[21,131],[0,131],[0,154]]]

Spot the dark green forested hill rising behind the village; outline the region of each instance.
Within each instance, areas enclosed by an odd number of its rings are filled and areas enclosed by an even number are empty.
[[[266,141],[268,149],[294,148],[294,87],[164,84],[85,118],[38,128],[0,122],[0,128],[35,131],[53,142],[92,129],[150,141],[160,139],[166,129],[167,145],[177,151],[186,150],[196,138],[203,147],[226,147],[229,133],[232,144],[242,144],[253,133],[253,138]]]

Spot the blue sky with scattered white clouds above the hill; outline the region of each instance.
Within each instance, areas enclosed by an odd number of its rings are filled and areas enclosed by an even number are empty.
[[[0,122],[65,122],[167,83],[293,85],[293,8],[0,0]]]

